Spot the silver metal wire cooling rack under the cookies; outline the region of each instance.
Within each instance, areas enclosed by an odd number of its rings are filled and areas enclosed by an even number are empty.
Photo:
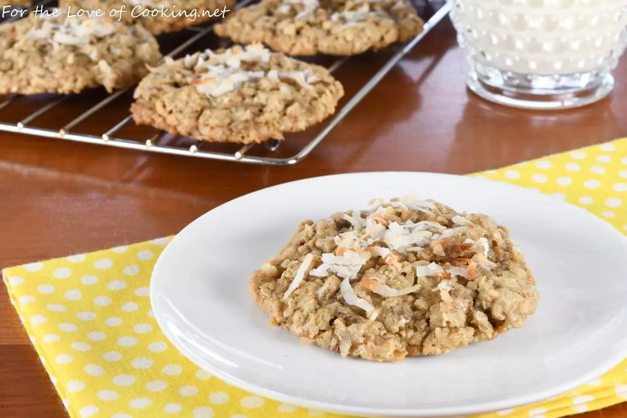
[[[253,0],[241,1],[240,3],[238,3],[235,9],[246,6],[247,4],[250,4],[252,2]],[[48,4],[48,3],[51,3],[51,0],[44,0],[38,4],[41,5],[41,4]],[[412,48],[414,48],[414,46],[416,46],[416,44],[418,44],[424,38],[424,36],[426,36],[426,34],[428,34],[429,31],[431,31],[431,29],[433,29],[433,27],[436,26],[436,24],[440,23],[440,21],[446,16],[446,14],[448,14],[448,12],[450,11],[450,4],[448,2],[444,4],[439,4],[440,2],[429,1],[429,6],[431,8],[436,8],[436,6],[434,5],[435,3],[438,3],[438,6],[440,6],[440,8],[438,8],[435,11],[435,13],[433,13],[433,16],[431,16],[431,18],[429,18],[428,21],[426,21],[426,23],[424,24],[424,29],[422,33],[418,34],[418,36],[411,39],[411,41],[409,41],[408,43],[398,48],[398,50],[396,50],[394,55],[391,56],[391,58],[386,63],[384,63],[384,65],[372,76],[372,78],[370,78],[370,80],[368,80],[366,84],[362,86],[359,89],[359,91],[357,91],[357,93],[355,93],[355,95],[352,96],[348,100],[348,102],[345,103],[344,107],[342,107],[339,110],[339,112],[337,112],[334,115],[334,117],[331,118],[329,122],[326,123],[324,128],[322,128],[322,130],[320,130],[320,132],[317,133],[317,135],[311,138],[311,140],[309,140],[307,144],[305,144],[302,147],[302,149],[300,149],[300,151],[298,151],[296,154],[293,154],[290,157],[283,158],[283,157],[267,157],[265,155],[251,155],[252,151],[254,151],[255,149],[258,149],[258,147],[265,147],[265,150],[261,149],[261,151],[265,152],[265,154],[271,154],[275,152],[278,149],[279,145],[281,144],[281,141],[278,141],[278,140],[269,140],[269,141],[266,141],[264,144],[247,144],[241,147],[240,149],[236,150],[235,152],[220,152],[220,151],[212,151],[209,148],[213,144],[206,142],[206,141],[200,141],[200,140],[187,140],[187,141],[183,141],[184,144],[172,145],[171,142],[176,142],[174,141],[174,139],[180,138],[180,137],[173,136],[166,132],[156,133],[155,135],[152,135],[152,137],[147,138],[145,140],[133,140],[133,139],[127,139],[127,138],[116,136],[116,135],[119,135],[119,132],[120,130],[122,130],[122,128],[126,127],[127,125],[129,125],[129,123],[132,122],[131,115],[128,115],[127,117],[120,120],[120,122],[115,123],[115,125],[109,128],[106,132],[102,133],[102,135],[92,135],[92,134],[73,131],[73,128],[75,128],[77,125],[87,120],[88,118],[97,117],[98,112],[100,110],[102,110],[104,107],[112,103],[114,100],[116,100],[120,96],[124,95],[124,93],[127,93],[127,91],[129,91],[131,88],[126,88],[124,90],[115,91],[114,93],[108,95],[103,100],[101,100],[95,105],[92,105],[92,107],[88,108],[87,110],[85,110],[85,112],[78,115],[78,117],[75,117],[73,120],[71,120],[71,122],[66,123],[66,125],[60,128],[59,130],[33,127],[29,124],[33,122],[34,120],[36,120],[37,118],[41,117],[42,115],[45,115],[46,112],[50,111],[57,105],[60,105],[61,103],[65,102],[65,100],[73,96],[71,95],[62,96],[62,97],[53,96],[50,98],[50,100],[46,100],[47,103],[45,105],[38,107],[36,110],[34,110],[33,113],[24,117],[19,122],[17,123],[1,122],[2,110],[8,109],[8,107],[14,103],[16,98],[20,97],[19,95],[13,95],[7,98],[6,100],[4,100],[3,102],[0,102],[0,131],[24,133],[28,135],[38,135],[41,137],[70,140],[70,141],[75,141],[75,142],[87,142],[88,144],[108,145],[110,147],[144,150],[144,151],[149,151],[149,152],[159,152],[161,154],[184,155],[187,157],[201,157],[204,159],[228,160],[228,161],[236,161],[236,162],[245,162],[249,164],[261,164],[261,165],[296,164],[298,161],[307,157],[307,155],[318,144],[320,144],[320,142],[327,136],[327,134],[335,126],[337,126],[337,124],[340,123],[342,119],[344,119],[344,117],[350,112],[350,110],[352,110],[352,108],[354,108],[357,105],[357,103],[361,102],[362,98],[364,98],[372,90],[372,88],[374,88],[374,86],[376,86],[377,83],[381,81],[381,79],[396,65],[396,63],[398,63],[398,61],[401,60],[403,56],[409,53],[409,51],[411,51]],[[34,6],[31,6],[31,8],[29,9],[34,9]],[[14,19],[6,19],[3,21],[3,23],[6,23],[7,21],[11,21],[11,20],[14,20]],[[211,26],[192,27],[192,28],[187,28],[186,31],[191,31],[193,33],[191,38],[179,44],[176,48],[174,48],[174,50],[170,51],[167,54],[167,56],[171,56],[171,57],[177,56],[179,53],[181,53],[181,51],[185,50],[192,44],[204,38],[204,36],[211,33],[213,31],[213,28]],[[228,44],[223,44],[223,47],[226,47],[226,46],[228,46]],[[338,68],[340,68],[340,66],[342,66],[347,60],[349,60],[349,57],[339,58],[327,68],[329,69],[330,72],[333,72],[337,70]]]

